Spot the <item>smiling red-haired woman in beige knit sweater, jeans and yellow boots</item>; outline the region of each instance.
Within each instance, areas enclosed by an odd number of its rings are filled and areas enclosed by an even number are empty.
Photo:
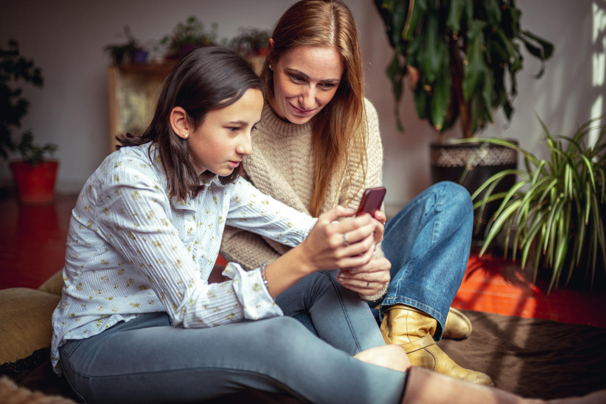
[[[335,205],[357,207],[364,188],[381,185],[383,151],[376,110],[364,98],[358,31],[347,5],[292,5],[276,23],[261,78],[268,96],[244,165],[247,178],[311,216]],[[413,365],[491,385],[490,377],[462,368],[435,343],[471,332],[467,317],[453,309],[449,314],[449,308],[467,266],[472,220],[464,188],[433,185],[387,223],[370,263],[341,271],[337,279],[373,306],[381,304],[385,342],[402,345]],[[225,258],[249,268],[286,251],[229,228],[221,247]],[[387,284],[379,274],[390,267]],[[316,328],[325,321],[313,311],[309,315]]]

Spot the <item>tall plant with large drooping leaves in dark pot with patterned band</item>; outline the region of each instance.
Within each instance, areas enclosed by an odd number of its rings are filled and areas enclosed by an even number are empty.
[[[477,136],[498,108],[511,119],[521,45],[542,62],[537,78],[553,45],[521,29],[514,0],[375,0],[375,5],[394,49],[387,75],[399,130],[398,104],[408,77],[419,117],[441,134],[440,142],[431,144],[432,180],[459,182],[471,166],[462,184],[473,192],[491,174],[515,168],[518,156],[509,148],[490,145],[479,156],[478,145],[448,144],[444,133],[459,119],[463,137]],[[501,186],[507,185],[512,184]]]

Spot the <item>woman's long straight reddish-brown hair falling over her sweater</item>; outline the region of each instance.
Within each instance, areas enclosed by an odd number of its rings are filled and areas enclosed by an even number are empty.
[[[311,138],[314,184],[309,210],[318,216],[324,207],[331,179],[336,175],[350,183],[354,171],[366,177],[368,133],[364,107],[362,59],[356,23],[341,0],[301,0],[276,23],[274,45],[267,55],[261,79],[273,97],[273,71],[269,64],[299,45],[334,47],[345,70],[333,99],[313,118]],[[356,190],[358,193],[360,190]],[[333,201],[336,202],[336,201]]]

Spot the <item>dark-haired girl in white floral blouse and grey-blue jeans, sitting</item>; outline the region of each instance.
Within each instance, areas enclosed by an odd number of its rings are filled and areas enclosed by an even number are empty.
[[[145,133],[122,136],[84,185],[52,363],[86,402],[199,402],[247,388],[315,403],[401,399],[404,350],[392,347],[399,371],[363,362],[384,345],[375,320],[321,271],[367,263],[382,224],[336,222],[353,214],[342,207],[313,219],[238,178],[261,88],[233,51],[192,51]],[[297,247],[248,272],[230,262],[227,282],[208,283],[226,224]],[[321,338],[282,316],[290,306],[330,318]]]

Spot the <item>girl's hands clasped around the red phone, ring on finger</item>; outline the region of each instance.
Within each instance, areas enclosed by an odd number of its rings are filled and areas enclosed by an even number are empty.
[[[364,267],[370,262],[377,235],[382,238],[382,224],[371,219],[369,214],[335,222],[339,217],[353,214],[355,210],[338,206],[319,216],[309,236],[296,247],[302,253],[302,263],[308,273]]]

